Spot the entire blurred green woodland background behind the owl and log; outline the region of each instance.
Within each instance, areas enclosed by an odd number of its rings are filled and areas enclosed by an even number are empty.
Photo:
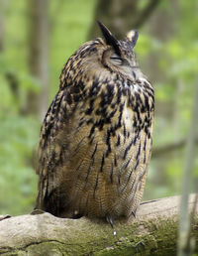
[[[185,0],[0,0],[0,214],[33,209],[42,120],[63,64],[81,44],[101,36],[98,19],[117,37],[138,28],[135,51],[155,90],[144,199],[181,192],[198,102],[197,12],[197,1]],[[198,188],[198,139],[195,144],[191,192]]]

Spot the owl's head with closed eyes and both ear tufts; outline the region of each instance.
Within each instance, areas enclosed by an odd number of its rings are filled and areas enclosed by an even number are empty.
[[[143,75],[134,53],[138,32],[131,31],[124,40],[117,40],[101,22],[98,24],[103,39],[97,38],[83,44],[65,64],[61,81],[66,79],[68,83],[82,76],[105,79],[115,73],[135,80],[139,74]],[[63,83],[61,85],[64,86]]]

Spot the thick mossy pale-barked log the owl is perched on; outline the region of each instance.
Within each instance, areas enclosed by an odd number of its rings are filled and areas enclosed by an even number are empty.
[[[63,219],[49,213],[0,221],[3,255],[175,255],[179,196],[143,202],[137,217],[116,221]],[[195,195],[191,194],[189,208]],[[198,252],[198,205],[192,235]]]

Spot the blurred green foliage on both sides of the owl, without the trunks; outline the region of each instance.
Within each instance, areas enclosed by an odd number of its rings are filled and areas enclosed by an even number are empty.
[[[0,52],[0,214],[30,212],[37,193],[34,152],[41,123],[37,117],[26,115],[24,109],[27,93],[32,90],[39,94],[41,82],[30,75],[28,68],[27,2],[9,1],[4,13],[4,49]],[[95,22],[95,4],[96,0],[49,1],[49,101],[57,91],[63,64],[86,41],[88,29]],[[153,37],[146,26],[140,31],[136,48],[141,66],[152,54],[160,57],[156,65],[165,75],[154,82],[156,105],[171,108],[171,117],[168,111],[161,114],[156,109],[153,147],[187,138],[190,126],[198,66],[198,6],[195,1],[181,0],[178,7],[176,30],[169,40]],[[170,1],[161,1],[156,12],[159,9],[174,15]],[[144,72],[149,76],[147,70]],[[11,86],[12,77],[16,87]],[[145,198],[180,192],[184,157],[183,148],[152,159]],[[197,158],[194,173],[198,177]]]

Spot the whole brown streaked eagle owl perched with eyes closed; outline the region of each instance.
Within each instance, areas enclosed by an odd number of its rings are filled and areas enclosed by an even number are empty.
[[[36,209],[59,217],[135,215],[148,173],[153,89],[137,64],[138,32],[83,44],[60,74],[38,150]]]

